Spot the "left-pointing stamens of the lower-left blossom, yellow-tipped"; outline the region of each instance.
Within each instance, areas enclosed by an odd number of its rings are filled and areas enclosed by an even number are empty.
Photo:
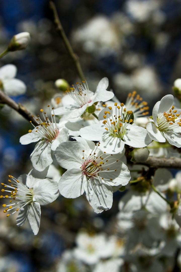
[[[2,207],[5,208],[3,211],[4,213],[7,213],[8,211],[13,211],[11,214],[7,214],[7,217],[9,215],[14,214],[15,212],[19,211],[22,209],[24,206],[27,204],[31,203],[33,201],[33,191],[32,189],[28,189],[25,185],[23,185],[20,181],[16,180],[14,177],[11,175],[9,177],[9,184],[4,184],[1,183],[2,186],[4,186],[4,189],[1,191],[8,192],[10,196],[7,194],[5,196],[1,195],[0,198],[10,198],[11,200],[9,201],[10,204],[3,204]]]

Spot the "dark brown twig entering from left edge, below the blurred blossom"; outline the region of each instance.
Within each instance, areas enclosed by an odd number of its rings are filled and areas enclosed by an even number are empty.
[[[17,104],[14,100],[12,100],[10,97],[8,97],[1,90],[0,90],[0,103],[9,105],[12,109],[16,110],[18,113],[20,113],[28,121],[31,121],[35,126],[38,125],[35,122],[35,120],[32,118],[32,113],[31,112],[28,112],[28,110],[26,110],[20,103]]]

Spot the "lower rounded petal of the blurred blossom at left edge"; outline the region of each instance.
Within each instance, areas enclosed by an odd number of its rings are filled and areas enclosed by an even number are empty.
[[[18,96],[26,92],[26,85],[20,79],[10,79],[3,84],[4,92],[10,96]]]

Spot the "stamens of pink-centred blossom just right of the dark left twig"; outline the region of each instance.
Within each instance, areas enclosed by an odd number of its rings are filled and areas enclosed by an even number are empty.
[[[48,108],[49,108],[49,111],[50,111],[50,106],[48,106]],[[54,108],[52,108],[52,110],[54,110]],[[42,116],[43,116],[42,119],[40,118],[39,115],[37,115],[37,117],[38,117],[37,119],[35,119],[34,116],[32,115],[33,119],[36,122],[39,122],[37,127],[36,127],[30,121],[30,123],[34,126],[34,128],[37,129],[35,132],[33,131],[33,133],[38,134],[41,138],[44,138],[46,141],[51,142],[59,134],[57,124],[56,124],[56,121],[55,121],[55,115],[51,114],[51,112],[50,112],[50,115],[51,115],[51,121],[50,121],[47,114],[46,114],[46,112],[44,112],[44,115],[43,115],[43,109],[41,109],[40,112],[42,113]],[[54,127],[54,125],[55,125],[55,127]],[[32,133],[32,130],[30,129],[30,130],[28,130],[28,132]]]

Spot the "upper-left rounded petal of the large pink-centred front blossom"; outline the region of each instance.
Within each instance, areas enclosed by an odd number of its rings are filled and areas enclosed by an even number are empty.
[[[82,150],[84,150],[84,146],[81,143],[64,142],[55,150],[55,157],[59,165],[65,169],[80,168],[82,166]]]

